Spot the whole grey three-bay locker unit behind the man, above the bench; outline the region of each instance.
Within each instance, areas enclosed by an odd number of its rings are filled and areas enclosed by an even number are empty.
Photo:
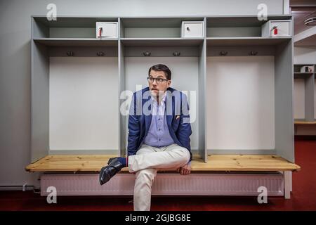
[[[292,18],[289,15],[275,15],[268,16],[268,20]],[[117,39],[96,39],[96,22],[102,21],[118,22]],[[204,22],[204,37],[181,38],[183,21]],[[48,21],[45,16],[33,16],[32,161],[53,153],[126,155],[128,117],[120,113],[121,105],[126,102],[126,94],[122,92],[135,91],[137,84],[145,87],[149,67],[162,62],[170,65],[173,70],[175,88],[186,90],[188,97],[192,98],[190,103],[195,104],[192,151],[199,154],[205,162],[208,154],[225,153],[275,154],[294,162],[293,41],[292,37],[262,37],[261,26],[265,22],[258,20],[256,15],[58,17],[57,21]],[[86,58],[86,62],[90,62],[86,64],[91,70],[90,78],[82,72],[85,69],[85,61],[79,58]],[[262,70],[260,67],[261,62],[268,65],[267,77],[265,68]],[[71,79],[76,79],[76,72],[73,71],[76,65],[82,66],[82,71],[77,71],[80,81],[72,84]],[[251,70],[245,70],[243,65],[249,66]],[[229,71],[235,71],[235,76],[231,76]],[[247,82],[247,77],[242,77],[245,71],[254,72],[254,76],[246,75],[251,82]],[[101,76],[98,76],[100,73]],[[240,86],[238,76],[244,79]],[[98,80],[96,82],[93,79]],[[256,79],[263,79],[263,82],[256,82]],[[104,89],[100,82],[104,84]],[[63,86],[65,84],[67,85]],[[216,92],[217,89],[210,89],[214,84],[223,86]],[[252,84],[256,84],[258,89],[251,87]],[[88,88],[89,85],[92,86],[91,89]],[[226,92],[225,86],[230,87]],[[235,93],[234,91],[241,93],[238,90],[244,87],[249,87],[249,92],[243,92],[246,94],[245,98],[229,95]],[[267,93],[265,89],[272,92]],[[62,93],[58,90],[64,91],[67,97],[62,98]],[[97,93],[91,90],[96,90]],[[105,93],[108,95],[104,96]],[[90,110],[84,108],[75,94],[89,96],[84,101],[91,103]],[[261,103],[256,101],[251,103],[249,110],[249,104],[246,102],[249,94],[258,95],[258,99],[263,99],[263,108],[260,108]],[[114,98],[114,101],[103,101],[104,98]],[[225,118],[235,118],[235,121],[226,121],[223,124],[225,131],[220,133],[219,137],[220,140],[228,140],[235,134],[242,136],[245,140],[236,139],[235,143],[238,144],[235,148],[229,148],[234,142],[226,144],[222,141],[215,144],[213,134],[220,132],[218,128],[221,125],[210,126],[218,119],[210,115],[213,115],[216,108],[225,110],[220,103],[223,101],[230,105],[230,98],[231,104],[237,107],[230,112],[226,111],[222,119],[225,121]],[[62,99],[65,102],[62,102]],[[239,101],[243,111],[237,112]],[[70,102],[72,107],[68,104]],[[210,103],[216,107],[212,108]],[[58,105],[58,110],[52,108],[54,104]],[[96,110],[105,110],[107,113],[98,114]],[[261,110],[267,110],[267,116],[262,112],[258,113]],[[259,116],[253,117],[254,112]],[[73,119],[73,123],[69,126],[61,125],[64,126],[63,130],[52,130],[52,124],[62,124],[62,116]],[[88,118],[86,120],[89,124],[85,125],[84,118]],[[105,124],[100,122],[109,118],[112,120]],[[251,122],[246,122],[246,118]],[[257,123],[254,118],[260,118],[261,122],[270,127],[262,129],[262,124]],[[241,127],[242,121],[245,123]],[[84,130],[84,126],[88,128]],[[88,136],[91,134],[89,129],[92,134],[101,131],[104,136],[109,136],[102,139],[98,136],[100,132],[95,136]],[[65,140],[65,131],[72,137],[73,144],[69,146],[69,140]],[[249,132],[252,134],[248,144],[246,136]],[[82,148],[75,143],[82,143]]]

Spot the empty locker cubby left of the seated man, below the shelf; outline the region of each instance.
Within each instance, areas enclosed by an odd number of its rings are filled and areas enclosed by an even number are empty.
[[[85,27],[95,20],[77,22]],[[33,24],[41,21],[33,18]],[[58,18],[52,26],[68,25],[76,26],[75,20]],[[32,160],[51,154],[117,154],[118,41],[96,41],[56,39],[49,33],[38,38],[33,30]],[[114,98],[105,98],[109,91]]]

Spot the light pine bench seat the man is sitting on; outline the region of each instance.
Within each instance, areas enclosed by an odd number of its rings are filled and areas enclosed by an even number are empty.
[[[116,155],[48,155],[25,167],[28,172],[99,172]],[[195,156],[192,172],[272,172],[301,169],[278,155],[209,155],[208,162]],[[128,168],[122,172],[128,172]],[[172,170],[174,172],[174,170]]]

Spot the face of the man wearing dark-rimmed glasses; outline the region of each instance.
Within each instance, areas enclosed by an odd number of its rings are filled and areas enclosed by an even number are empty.
[[[164,74],[164,71],[151,70],[149,77],[164,79],[160,83],[157,81],[157,79],[154,79],[153,82],[148,81],[148,86],[152,96],[162,96],[171,84],[171,80],[165,80],[166,75]]]

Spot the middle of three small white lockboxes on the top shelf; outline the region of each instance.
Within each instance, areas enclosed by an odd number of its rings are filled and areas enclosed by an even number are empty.
[[[204,37],[204,21],[183,21],[181,37]]]

